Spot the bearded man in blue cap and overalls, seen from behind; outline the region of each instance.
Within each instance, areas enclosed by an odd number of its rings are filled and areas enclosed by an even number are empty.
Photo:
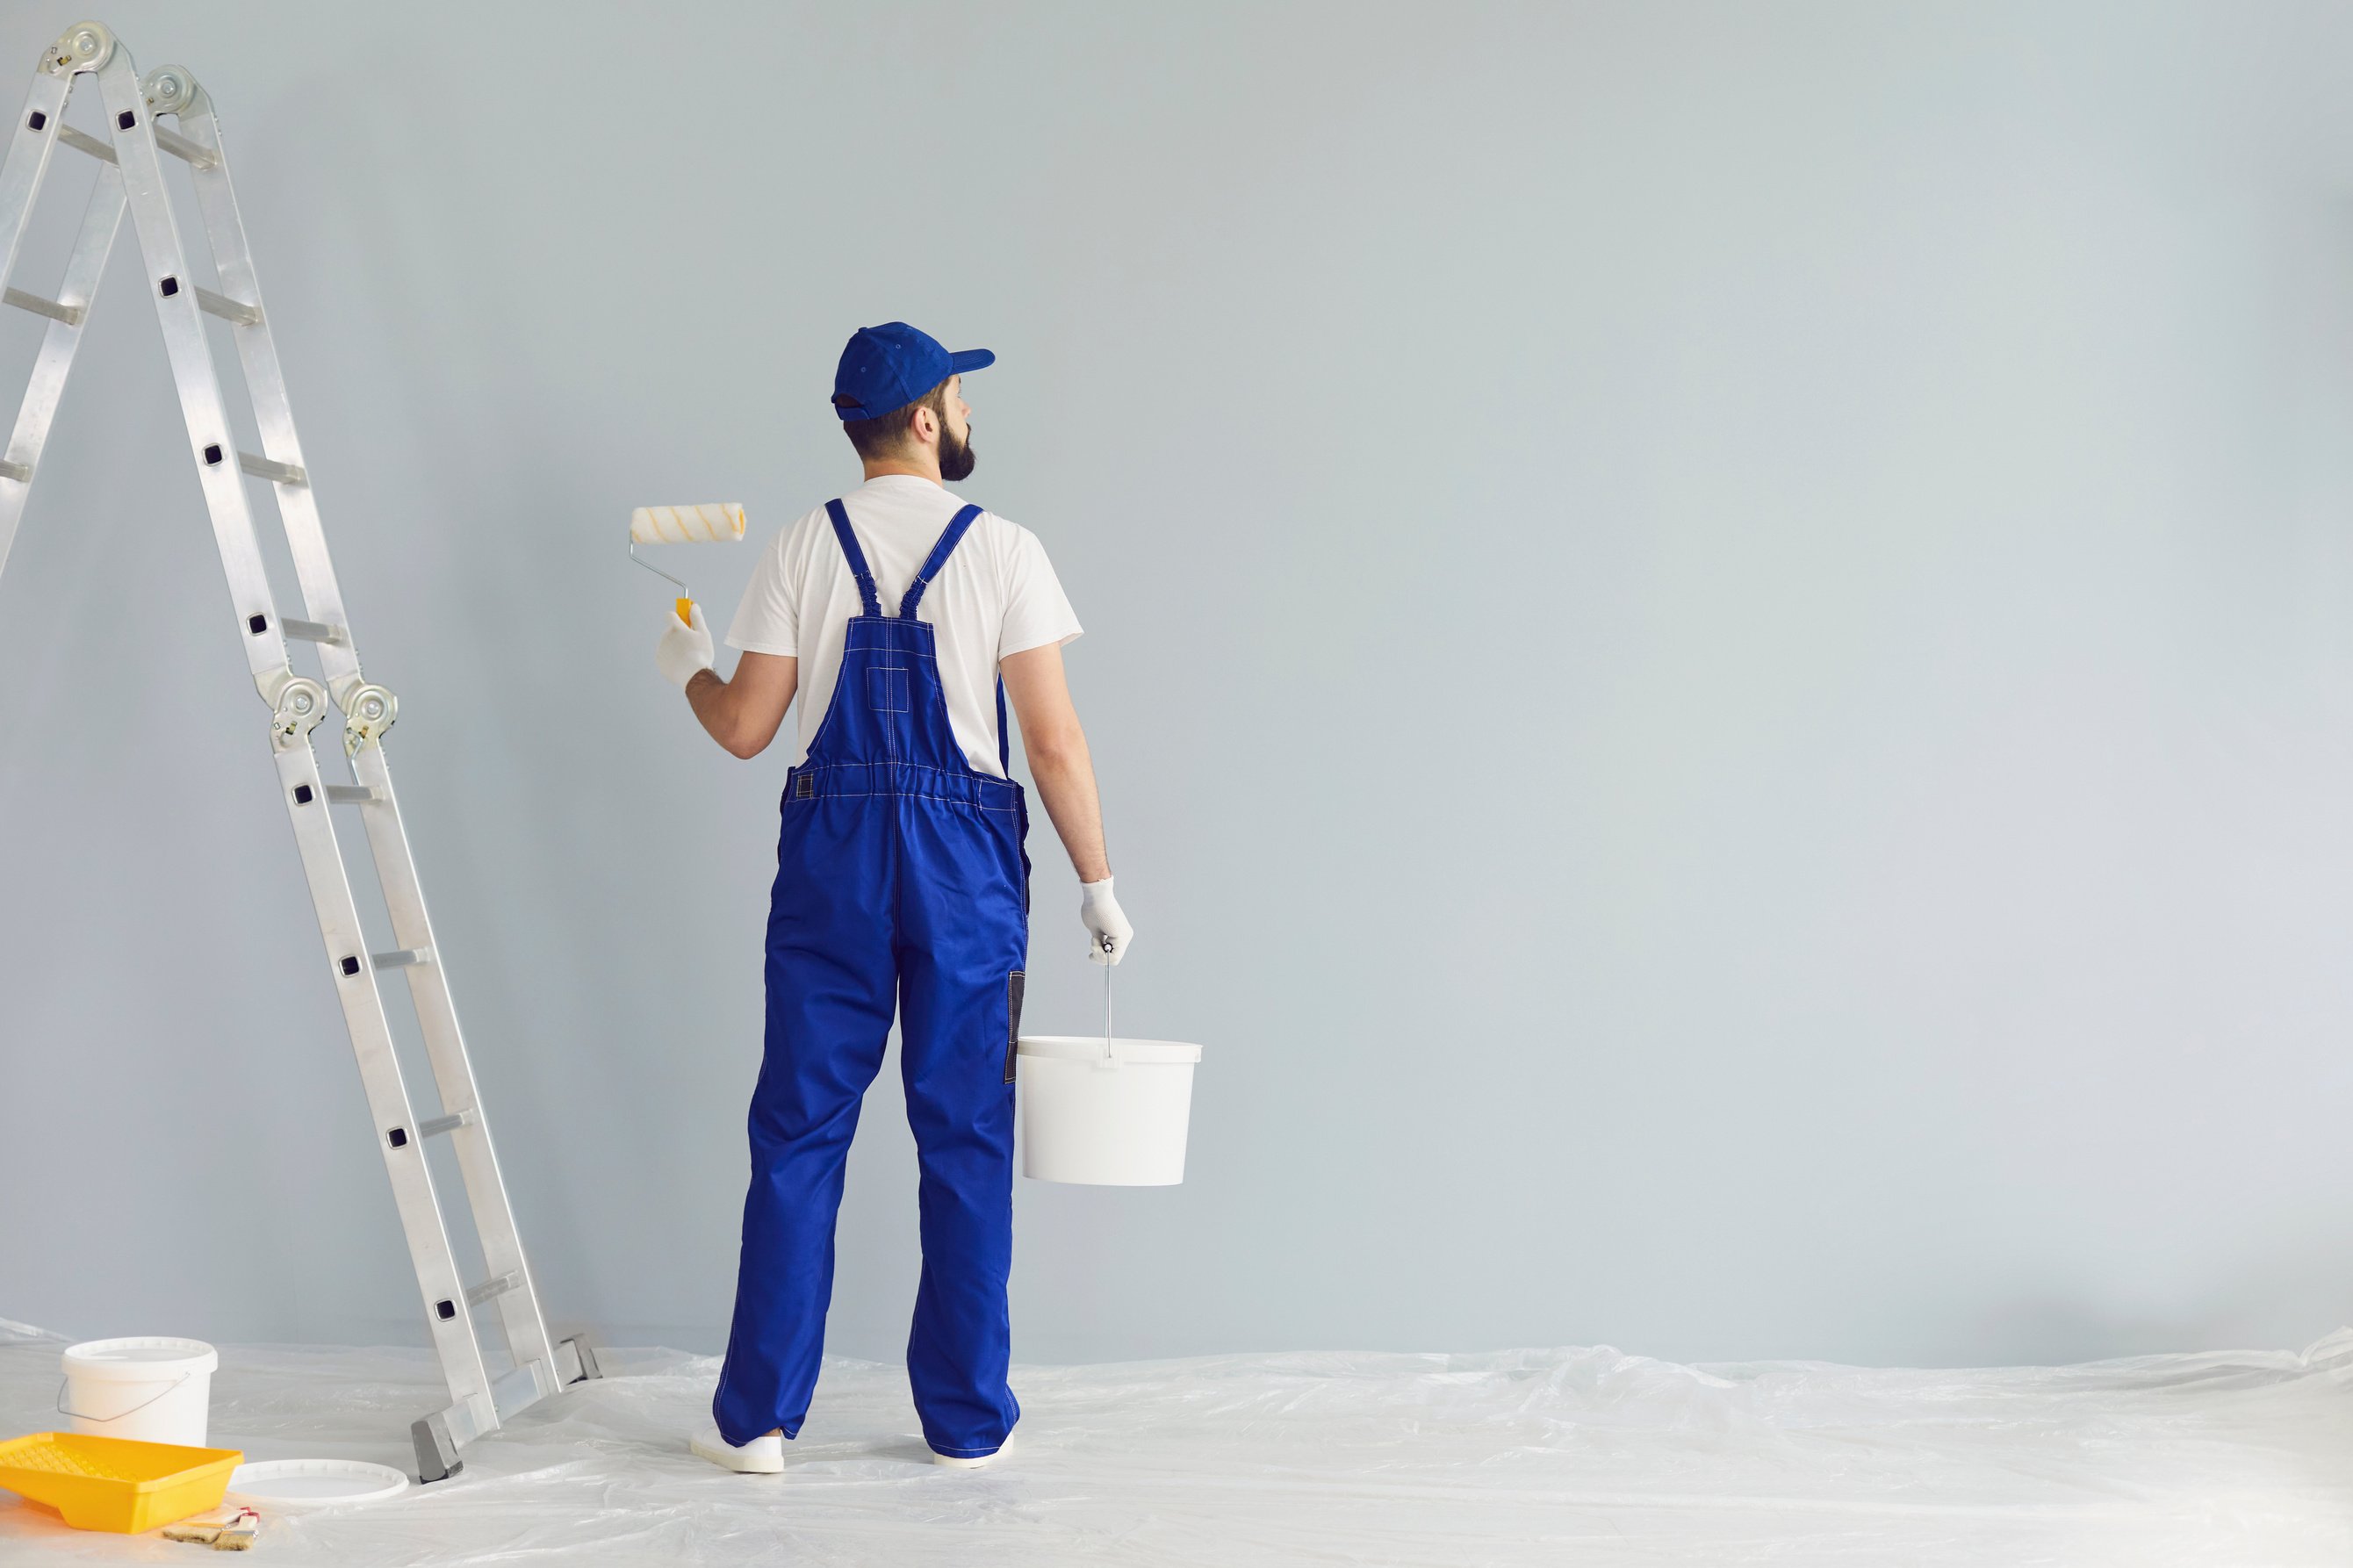
[[[1005,1276],[1031,862],[1007,692],[1082,885],[1087,956],[1118,963],[1132,937],[1061,673],[1078,617],[1035,534],[946,490],[972,473],[965,372],[991,363],[896,320],[856,332],[833,407],[866,483],[760,556],[727,631],[744,650],[734,680],[711,669],[701,607],[692,626],[673,612],[656,647],[704,730],[741,758],[774,739],[802,662],[809,676],[769,895],[734,1328],[713,1427],[689,1443],[734,1471],[784,1469],[809,1410],[842,1161],[894,1010],[922,1165],[906,1347],[922,1436],[939,1464],[979,1467],[1021,1415],[1005,1387]]]

